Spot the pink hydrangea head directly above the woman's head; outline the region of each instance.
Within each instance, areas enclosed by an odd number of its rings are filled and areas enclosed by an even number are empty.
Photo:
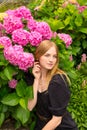
[[[49,40],[52,38],[52,31],[46,22],[37,22],[35,31],[42,34],[42,40]]]

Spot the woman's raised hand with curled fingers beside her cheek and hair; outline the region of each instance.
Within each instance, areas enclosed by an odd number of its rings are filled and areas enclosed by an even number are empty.
[[[39,79],[41,76],[41,67],[39,65],[39,62],[34,63],[34,67],[32,69],[32,73],[36,79]]]

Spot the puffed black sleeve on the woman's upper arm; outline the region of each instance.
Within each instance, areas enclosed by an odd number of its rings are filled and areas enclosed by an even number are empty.
[[[62,75],[63,76],[63,75]],[[64,77],[64,76],[63,76]],[[55,75],[48,87],[50,112],[55,116],[63,116],[70,99],[68,84],[60,74]]]

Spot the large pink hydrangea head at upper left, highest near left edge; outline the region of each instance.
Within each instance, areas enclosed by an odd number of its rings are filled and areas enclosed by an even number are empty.
[[[16,29],[23,28],[21,19],[13,15],[4,18],[3,26],[6,32],[10,34]]]

